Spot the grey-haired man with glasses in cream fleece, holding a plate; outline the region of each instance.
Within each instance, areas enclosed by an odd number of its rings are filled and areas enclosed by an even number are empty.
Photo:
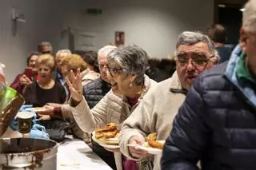
[[[175,58],[177,71],[174,75],[150,89],[122,125],[119,144],[121,151],[130,159],[140,160],[148,156],[136,144],[144,144],[145,137],[150,133],[156,132],[157,140],[166,140],[172,121],[194,79],[219,61],[210,38],[188,31],[178,38]],[[155,156],[154,169],[160,169],[160,158],[161,155]]]

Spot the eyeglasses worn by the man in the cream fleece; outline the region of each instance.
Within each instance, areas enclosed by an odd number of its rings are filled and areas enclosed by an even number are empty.
[[[196,66],[204,66],[210,61],[210,58],[214,57],[214,55],[211,55],[210,57],[206,57],[205,53],[192,53],[190,57],[188,57],[187,54],[178,54],[176,59],[178,63],[182,66],[185,66],[189,63],[191,59],[191,63]]]

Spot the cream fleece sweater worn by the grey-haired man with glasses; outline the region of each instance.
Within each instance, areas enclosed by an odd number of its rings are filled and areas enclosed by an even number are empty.
[[[136,160],[130,155],[127,147],[131,136],[146,137],[151,132],[157,132],[157,140],[166,140],[170,135],[174,117],[185,100],[185,94],[181,92],[182,86],[175,72],[173,77],[158,83],[146,93],[141,103],[122,125],[119,144],[125,156]],[[154,156],[154,169],[160,169],[161,156]]]

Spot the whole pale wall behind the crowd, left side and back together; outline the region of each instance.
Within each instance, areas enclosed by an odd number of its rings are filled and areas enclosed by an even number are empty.
[[[125,43],[142,46],[152,57],[166,57],[174,51],[183,30],[205,30],[214,20],[213,0],[0,0],[0,62],[13,81],[26,65],[27,54],[41,41],[50,41],[55,51],[68,46],[65,31],[98,32],[98,48],[114,42],[114,31],[125,31]],[[25,14],[11,34],[10,8]],[[101,8],[90,16],[87,8]]]

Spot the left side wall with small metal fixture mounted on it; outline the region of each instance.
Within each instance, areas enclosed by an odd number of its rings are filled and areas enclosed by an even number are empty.
[[[46,29],[47,1],[34,0],[0,0],[0,62],[6,65],[4,70],[9,82],[21,73],[26,66],[26,57],[37,49],[38,42],[47,39]],[[25,16],[26,23],[18,23],[14,36],[11,21],[11,9]]]

